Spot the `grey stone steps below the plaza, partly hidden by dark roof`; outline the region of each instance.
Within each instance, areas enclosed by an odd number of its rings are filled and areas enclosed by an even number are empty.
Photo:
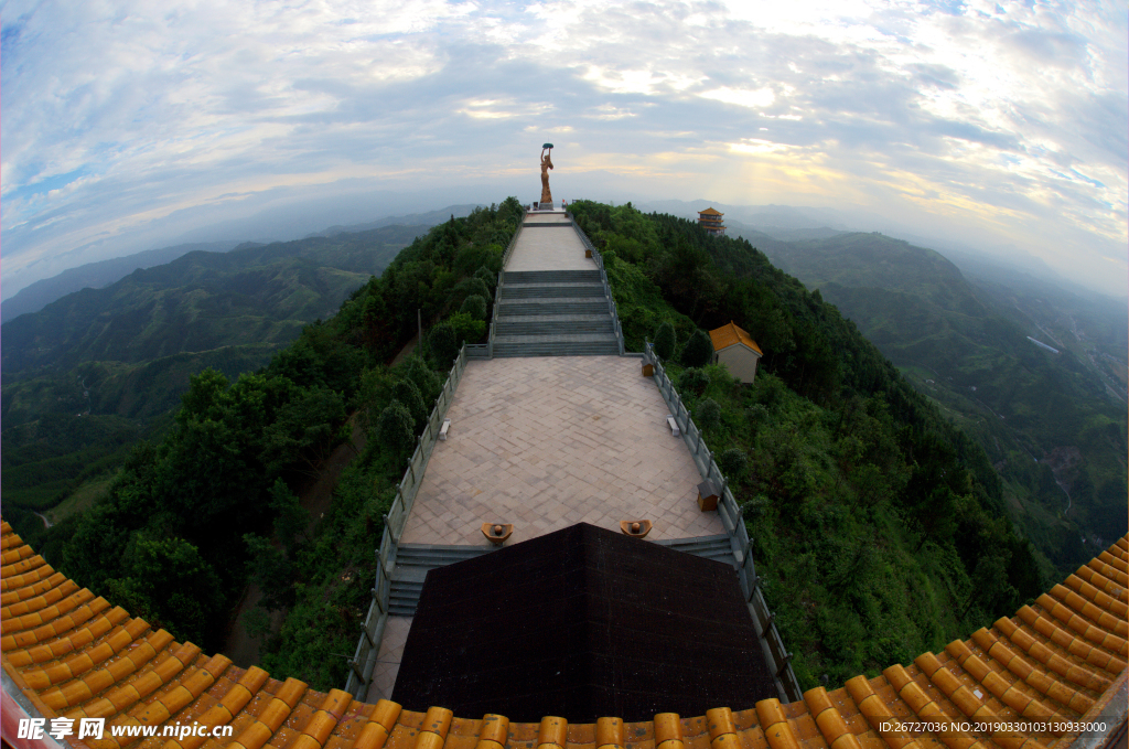
[[[724,561],[736,568],[737,560],[728,535],[707,535],[693,539],[669,539],[655,541],[669,549]],[[388,596],[388,613],[394,617],[415,616],[415,606],[423,590],[427,573],[436,567],[445,567],[464,559],[473,559],[501,547],[488,546],[439,546],[423,543],[401,543],[396,549],[396,566],[392,571],[392,592]]]

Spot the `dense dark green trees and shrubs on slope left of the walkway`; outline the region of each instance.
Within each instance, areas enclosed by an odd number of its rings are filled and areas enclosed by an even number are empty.
[[[272,674],[340,687],[395,482],[457,347],[484,334],[483,307],[519,219],[514,199],[452,218],[260,372],[193,377],[165,439],[137,447],[106,496],[51,529],[41,550],[80,584],[208,650],[254,581],[261,609],[246,622],[265,637]],[[430,329],[419,350],[432,357],[390,368],[415,334],[417,311]],[[342,443],[359,459],[310,522],[295,489]],[[270,610],[285,612],[275,628]]]

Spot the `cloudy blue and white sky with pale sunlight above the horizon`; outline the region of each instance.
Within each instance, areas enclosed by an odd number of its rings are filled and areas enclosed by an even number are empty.
[[[527,202],[546,140],[558,198],[830,207],[1127,294],[1120,0],[8,0],[0,29],[6,297]]]

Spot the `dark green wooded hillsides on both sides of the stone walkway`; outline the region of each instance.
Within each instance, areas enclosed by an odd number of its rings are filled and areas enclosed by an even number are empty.
[[[820,291],[691,221],[574,209],[603,250],[629,347],[663,332],[805,688],[943,647],[1043,590],[984,451]],[[80,584],[205,647],[254,581],[263,601],[247,624],[265,638],[263,665],[339,687],[395,481],[458,342],[485,333],[519,218],[507,199],[432,228],[262,369],[193,377],[170,428],[90,510],[18,530]],[[390,367],[417,310],[427,359]],[[702,348],[704,330],[729,320],[764,349],[752,386]],[[296,488],[351,424],[365,444],[324,517],[309,519]]]

